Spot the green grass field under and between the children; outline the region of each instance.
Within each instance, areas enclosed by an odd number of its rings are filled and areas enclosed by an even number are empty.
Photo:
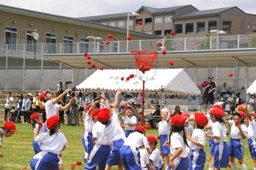
[[[2,126],[2,124],[1,124]],[[0,127],[1,127],[0,126]],[[30,169],[29,160],[35,155],[32,148],[32,126],[30,124],[17,124],[17,133],[14,133],[10,138],[3,139],[3,145],[0,149],[4,157],[0,159],[0,163],[4,166],[3,169]],[[63,163],[65,169],[69,169],[72,163],[77,161],[82,161],[82,156],[84,154],[84,147],[81,144],[81,136],[84,133],[84,127],[69,127],[62,126],[62,133],[65,134],[68,144],[66,150],[63,152]],[[148,130],[147,135],[157,136],[157,130]],[[206,154],[209,154],[208,142],[206,142]],[[250,153],[248,152],[247,142],[245,143],[245,164],[248,169],[253,169],[252,160]],[[237,167],[239,167],[236,162]],[[208,169],[209,159],[206,160],[205,169]],[[240,167],[239,167],[240,168]],[[83,166],[76,166],[75,169],[84,169]],[[114,167],[113,169],[116,169]]]

